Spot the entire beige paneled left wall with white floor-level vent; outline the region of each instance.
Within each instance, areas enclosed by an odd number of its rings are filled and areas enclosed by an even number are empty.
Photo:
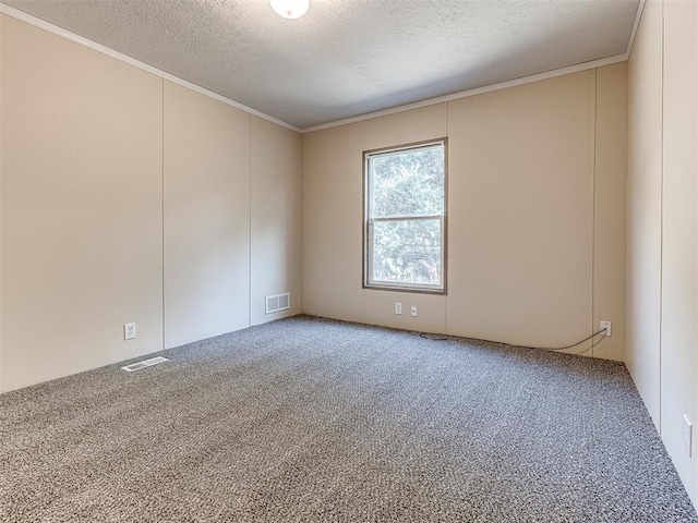
[[[0,391],[300,309],[297,133],[0,28]]]

